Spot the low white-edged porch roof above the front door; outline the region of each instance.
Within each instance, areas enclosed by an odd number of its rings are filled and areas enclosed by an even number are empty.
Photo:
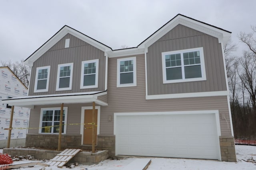
[[[95,102],[101,106],[108,106],[108,103],[98,99],[98,96],[107,94],[107,91],[94,91],[82,93],[67,93],[67,94],[49,94],[40,96],[24,96],[18,98],[3,99],[2,103],[9,106],[22,106],[34,108],[34,105],[47,104],[76,104]]]

